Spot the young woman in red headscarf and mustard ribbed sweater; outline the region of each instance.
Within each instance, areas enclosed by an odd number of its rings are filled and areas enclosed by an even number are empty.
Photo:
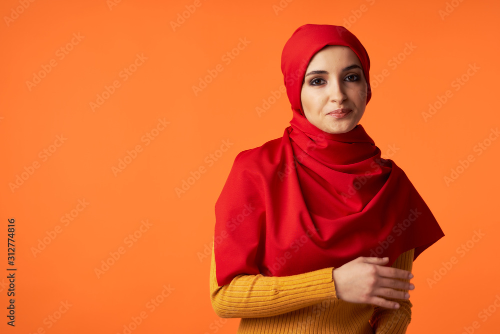
[[[211,301],[238,333],[406,331],[412,262],[444,234],[358,124],[369,65],[339,26],[284,46],[290,126],[237,155],[215,204]]]

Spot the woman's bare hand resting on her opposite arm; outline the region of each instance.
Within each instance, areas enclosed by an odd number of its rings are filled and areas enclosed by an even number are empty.
[[[335,283],[337,298],[355,302],[370,303],[387,308],[398,308],[399,303],[384,299],[408,299],[406,291],[415,286],[409,282],[396,278],[410,279],[411,272],[392,267],[385,267],[388,257],[363,257],[360,256],[344,265],[334,268],[331,277]]]

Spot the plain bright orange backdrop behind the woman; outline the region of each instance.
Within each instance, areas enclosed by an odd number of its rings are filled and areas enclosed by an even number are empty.
[[[1,2],[0,332],[123,333],[141,312],[147,317],[134,334],[235,332],[239,319],[219,319],[211,308],[209,253],[200,254],[212,241],[213,206],[236,154],[288,126],[285,94],[269,98],[282,85],[283,45],[305,23],[345,25],[363,43],[373,97],[360,123],[406,172],[446,234],[414,263],[407,332],[461,333],[473,321],[474,332],[496,332],[500,310],[490,307],[496,312],[486,318],[479,312],[500,300],[500,140],[480,154],[474,147],[500,124],[498,2],[111,1]],[[195,10],[182,23],[178,15],[188,9]],[[240,39],[249,43],[228,63],[222,57]],[[404,55],[410,43],[416,48]],[[134,68],[137,55],[147,59]],[[398,56],[398,64],[390,62]],[[51,61],[56,66],[43,70]],[[192,87],[218,64],[222,71],[195,95]],[[126,77],[121,71],[129,67],[135,72]],[[39,72],[44,78],[28,87]],[[113,93],[92,111],[106,86]],[[422,112],[439,106],[447,90],[447,101],[425,121]],[[259,115],[263,99],[274,103]],[[169,124],[158,126],[158,119]],[[163,130],[151,131],[157,126]],[[156,137],[143,137],[148,133]],[[210,162],[224,140],[232,145]],[[135,158],[113,173],[137,145]],[[444,177],[468,155],[473,161],[447,185]],[[33,163],[38,168],[30,169]],[[175,188],[200,167],[205,172],[177,196]],[[17,176],[24,180],[12,187]],[[73,214],[67,225],[66,214]],[[9,218],[15,327],[5,316]],[[137,232],[146,220],[149,227]],[[474,231],[484,234],[477,242]],[[130,243],[134,232],[140,237]],[[466,252],[457,249],[462,244]],[[457,262],[446,269],[452,256]],[[112,265],[97,277],[106,260]],[[161,300],[153,310],[151,298]],[[52,322],[59,309],[65,312]]]

